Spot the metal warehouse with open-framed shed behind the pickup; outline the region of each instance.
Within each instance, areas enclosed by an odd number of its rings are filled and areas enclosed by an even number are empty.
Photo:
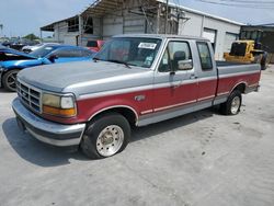
[[[216,59],[230,49],[241,23],[164,0],[96,0],[80,14],[41,27],[56,42],[85,46],[116,34],[183,34],[209,38]]]

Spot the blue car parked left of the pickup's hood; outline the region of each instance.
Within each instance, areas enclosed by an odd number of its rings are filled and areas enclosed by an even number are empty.
[[[39,65],[91,60],[95,55],[83,47],[53,45],[24,54],[7,47],[0,48],[0,87],[16,91],[15,79],[21,69]]]

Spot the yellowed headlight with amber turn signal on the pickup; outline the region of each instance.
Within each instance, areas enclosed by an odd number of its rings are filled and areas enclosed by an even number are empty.
[[[72,117],[77,114],[75,96],[72,94],[57,95],[44,93],[42,104],[43,113],[45,114],[60,117]]]

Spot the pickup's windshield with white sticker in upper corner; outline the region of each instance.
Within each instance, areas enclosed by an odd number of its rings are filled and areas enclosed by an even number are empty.
[[[114,37],[105,43],[95,59],[150,68],[161,45],[159,38]]]

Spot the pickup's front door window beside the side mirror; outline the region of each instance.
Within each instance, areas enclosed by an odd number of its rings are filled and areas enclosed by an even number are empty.
[[[191,49],[185,42],[170,42],[160,61],[159,71],[179,70],[180,61],[192,59]]]

